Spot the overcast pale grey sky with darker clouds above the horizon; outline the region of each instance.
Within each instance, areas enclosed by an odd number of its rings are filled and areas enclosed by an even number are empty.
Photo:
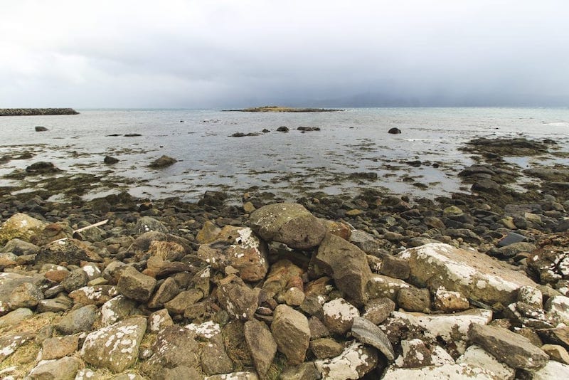
[[[569,106],[566,0],[0,9],[0,107]]]

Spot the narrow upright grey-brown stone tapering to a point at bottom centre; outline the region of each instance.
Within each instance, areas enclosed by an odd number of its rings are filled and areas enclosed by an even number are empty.
[[[257,320],[245,322],[245,340],[251,351],[257,374],[264,379],[277,354],[277,342],[267,325]]]

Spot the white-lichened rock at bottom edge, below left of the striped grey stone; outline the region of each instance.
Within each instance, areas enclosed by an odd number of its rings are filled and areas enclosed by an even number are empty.
[[[375,349],[352,342],[338,357],[314,361],[322,379],[361,379],[378,364]]]

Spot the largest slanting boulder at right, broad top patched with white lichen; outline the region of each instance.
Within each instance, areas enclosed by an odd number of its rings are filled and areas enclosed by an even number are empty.
[[[465,297],[488,304],[516,301],[517,290],[536,287],[524,273],[484,253],[454,248],[443,243],[430,243],[400,253],[409,261],[409,282],[429,287],[432,293],[440,287],[462,293]]]

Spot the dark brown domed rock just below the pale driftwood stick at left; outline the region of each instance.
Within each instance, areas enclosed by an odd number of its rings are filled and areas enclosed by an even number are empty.
[[[102,259],[82,241],[66,238],[53,241],[41,247],[34,263],[36,265],[43,265],[47,263],[58,264],[65,262],[80,265],[81,261],[100,262]]]

